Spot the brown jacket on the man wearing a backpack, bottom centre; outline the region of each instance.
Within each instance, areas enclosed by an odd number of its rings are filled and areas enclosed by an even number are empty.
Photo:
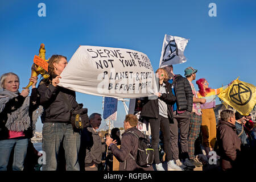
[[[133,171],[137,168],[136,160],[131,158],[129,154],[135,159],[137,158],[138,138],[129,131],[134,131],[138,136],[143,135],[136,127],[131,127],[122,134],[120,149],[115,144],[110,146],[113,155],[120,162],[119,171]]]

